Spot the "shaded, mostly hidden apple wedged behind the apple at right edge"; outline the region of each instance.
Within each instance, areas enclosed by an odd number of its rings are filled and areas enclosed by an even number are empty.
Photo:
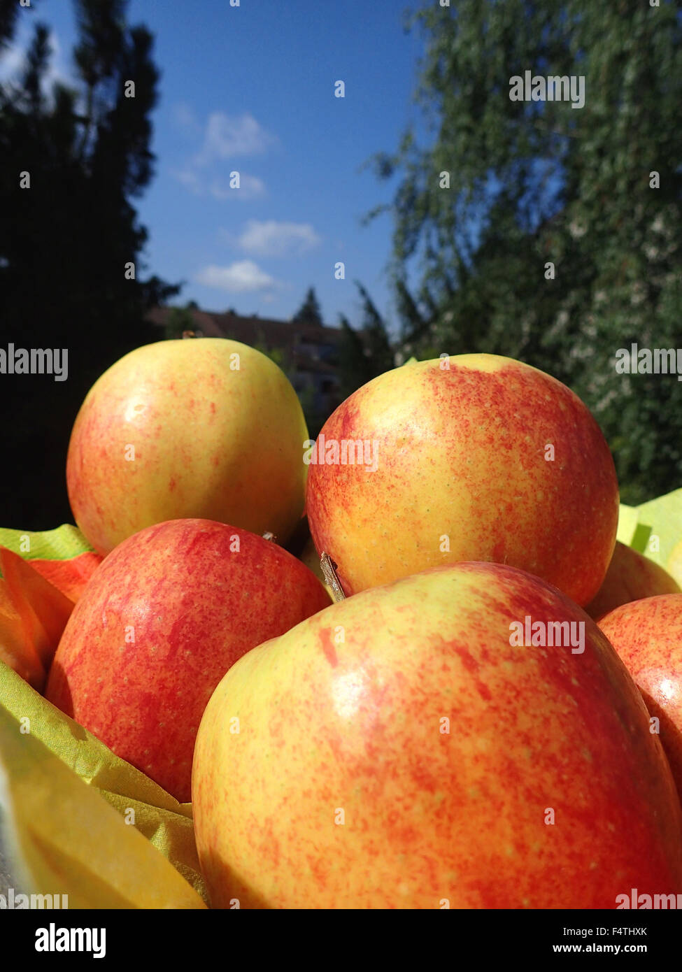
[[[663,567],[616,540],[604,582],[585,609],[590,617],[597,620],[630,601],[679,593],[677,583]]]

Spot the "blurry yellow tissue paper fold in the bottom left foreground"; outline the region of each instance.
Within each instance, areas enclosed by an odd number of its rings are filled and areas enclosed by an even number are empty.
[[[0,664],[3,697],[9,684],[20,711],[25,693],[13,683],[21,678]],[[4,698],[0,704],[3,843],[25,890],[66,895],[69,908],[205,908],[194,887],[139,829],[102,799],[102,791],[79,779],[40,741],[41,730],[49,731],[47,722],[41,721],[42,710],[40,705],[29,705],[17,717]],[[55,748],[79,759],[87,741],[85,730],[73,726],[75,745],[65,745],[60,738]],[[71,727],[59,727],[64,728]],[[107,762],[101,759],[96,776],[107,777],[113,770]],[[120,775],[121,781],[125,778],[126,773]],[[143,807],[138,807],[140,815]]]

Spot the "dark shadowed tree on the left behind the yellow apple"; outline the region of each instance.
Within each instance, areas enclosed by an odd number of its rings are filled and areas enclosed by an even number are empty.
[[[0,29],[9,38],[16,11],[8,17],[7,6]],[[179,291],[144,277],[147,230],[131,203],[153,175],[149,116],[159,72],[152,36],[126,24],[124,0],[78,0],[76,9],[80,89],[46,91],[42,23],[18,84],[0,86],[3,338],[68,354],[66,381],[47,374],[0,380],[2,522],[26,529],[71,520],[64,467],[78,408],[110,364],[157,339],[146,314]]]

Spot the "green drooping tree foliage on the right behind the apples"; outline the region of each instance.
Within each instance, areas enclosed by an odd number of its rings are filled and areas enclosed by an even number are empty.
[[[424,4],[415,24],[430,144],[410,128],[375,156],[377,176],[399,184],[368,214],[394,214],[406,350],[541,367],[592,408],[625,502],[682,486],[682,382],[615,368],[632,342],[682,347],[677,5],[457,0]],[[511,100],[526,70],[584,76],[584,107]]]

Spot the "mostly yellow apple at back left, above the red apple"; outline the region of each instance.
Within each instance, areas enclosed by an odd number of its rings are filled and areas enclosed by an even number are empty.
[[[260,351],[212,337],[148,344],[105,371],[78,413],[71,509],[100,554],[186,518],[284,544],[304,508],[306,438],[296,392]]]

